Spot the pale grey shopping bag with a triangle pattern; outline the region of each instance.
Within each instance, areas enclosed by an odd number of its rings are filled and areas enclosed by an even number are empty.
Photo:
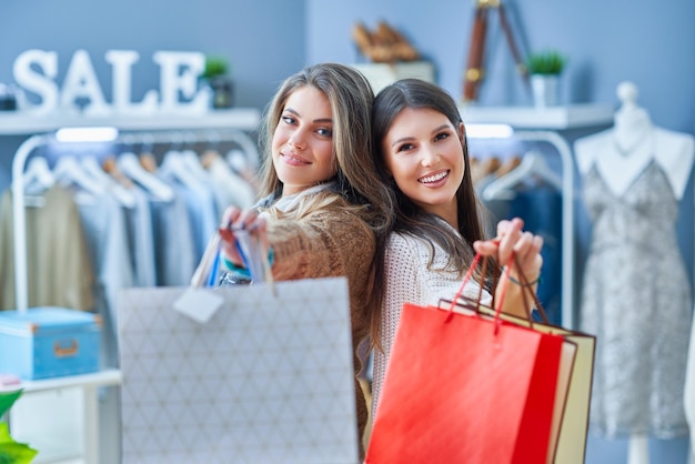
[[[359,463],[345,278],[222,286],[205,323],[184,288],[119,301],[123,463]]]

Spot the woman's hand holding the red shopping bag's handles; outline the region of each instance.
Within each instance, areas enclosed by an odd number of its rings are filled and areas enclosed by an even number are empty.
[[[512,279],[520,282],[521,272],[528,282],[537,282],[543,266],[543,238],[531,232],[524,232],[524,221],[514,218],[511,221],[504,220],[497,223],[497,236],[492,240],[479,240],[473,243],[473,249],[483,256],[493,256],[500,264],[506,265],[512,255],[516,256],[516,262],[510,269]]]

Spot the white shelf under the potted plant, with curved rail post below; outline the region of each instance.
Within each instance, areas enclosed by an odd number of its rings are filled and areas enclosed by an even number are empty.
[[[562,320],[576,329],[574,310],[574,154],[564,132],[601,128],[612,124],[613,107],[608,104],[575,104],[568,107],[479,107],[459,109],[465,124],[507,124],[513,137],[526,142],[546,142],[562,162]]]

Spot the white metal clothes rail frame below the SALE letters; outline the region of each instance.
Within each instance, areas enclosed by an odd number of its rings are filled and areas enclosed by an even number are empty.
[[[121,132],[114,140],[109,140],[109,144],[162,144],[162,143],[190,143],[198,142],[210,144],[235,143],[246,153],[248,160],[255,168],[260,159],[255,148],[255,142],[249,134],[236,129],[213,129],[213,130],[158,130]],[[12,159],[12,210],[13,210],[13,233],[14,233],[14,288],[17,311],[24,313],[28,309],[28,275],[27,275],[27,215],[24,211],[24,179],[23,173],[28,159],[40,148],[50,144],[63,143],[56,139],[53,133],[34,134],[24,140],[14,153]],[[70,144],[94,143],[94,141],[64,142]]]

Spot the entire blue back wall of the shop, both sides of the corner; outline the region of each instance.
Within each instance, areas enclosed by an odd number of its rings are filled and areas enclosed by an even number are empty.
[[[235,102],[262,109],[278,83],[305,63],[360,62],[351,39],[356,21],[380,19],[401,30],[436,67],[439,83],[462,95],[473,0],[120,0],[8,1],[0,18],[0,82],[12,80],[21,52],[59,53],[62,81],[72,53],[85,49],[110,99],[110,49],[137,50],[133,101],[159,85],[157,50],[224,54]],[[695,133],[695,2],[693,0],[508,0],[522,50],[554,47],[570,57],[565,103],[616,103],[622,80],[639,88],[654,122]],[[491,17],[486,79],[480,104],[528,104],[496,17]],[[0,188],[21,138],[0,138]],[[590,441],[587,463],[621,463],[625,442]],[[652,462],[685,464],[687,441],[655,443]]]

